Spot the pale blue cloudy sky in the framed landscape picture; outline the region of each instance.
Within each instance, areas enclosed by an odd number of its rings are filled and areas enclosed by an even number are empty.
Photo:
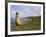
[[[11,18],[15,18],[16,12],[19,12],[22,15],[21,17],[40,16],[41,6],[11,5],[10,6]]]

